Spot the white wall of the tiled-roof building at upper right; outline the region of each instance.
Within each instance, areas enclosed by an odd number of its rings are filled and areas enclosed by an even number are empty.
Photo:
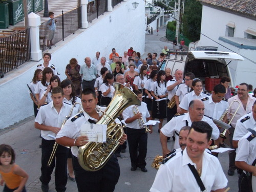
[[[218,44],[212,40],[218,42],[220,36],[226,35],[226,25],[229,22],[233,22],[235,25],[234,37],[244,38],[244,31],[248,28],[256,30],[256,20],[203,6],[201,23],[201,33],[203,35],[201,34],[197,46],[218,47]],[[212,40],[204,35],[210,37]]]

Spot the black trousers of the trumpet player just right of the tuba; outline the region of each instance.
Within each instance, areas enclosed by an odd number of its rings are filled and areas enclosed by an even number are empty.
[[[145,129],[131,129],[126,127],[132,167],[146,166],[147,133]]]

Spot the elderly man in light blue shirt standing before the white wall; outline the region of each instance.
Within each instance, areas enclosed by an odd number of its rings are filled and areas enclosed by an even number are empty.
[[[86,64],[82,65],[80,68],[80,75],[82,77],[82,89],[91,88],[94,89],[94,83],[97,76],[97,69],[95,65],[91,64],[91,58],[86,57],[84,59]]]

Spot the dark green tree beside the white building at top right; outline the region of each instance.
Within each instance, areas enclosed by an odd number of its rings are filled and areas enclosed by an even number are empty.
[[[200,39],[202,5],[197,0],[187,0],[183,15],[183,34],[192,41]]]

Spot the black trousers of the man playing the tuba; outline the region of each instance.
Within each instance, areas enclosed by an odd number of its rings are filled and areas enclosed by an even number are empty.
[[[73,168],[79,192],[113,192],[120,176],[117,157],[113,155],[108,162],[96,172],[84,170],[77,157],[73,156]]]

